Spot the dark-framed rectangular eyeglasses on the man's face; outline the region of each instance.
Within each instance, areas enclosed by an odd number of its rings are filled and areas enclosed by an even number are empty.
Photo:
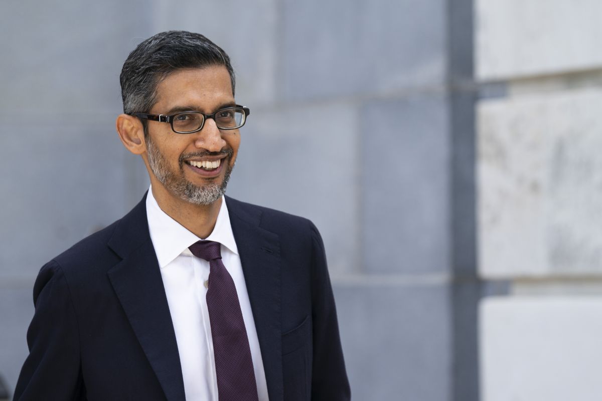
[[[207,118],[213,118],[219,129],[237,129],[244,125],[249,114],[251,111],[248,107],[239,105],[219,109],[213,114],[203,114],[199,111],[184,111],[170,115],[133,113],[136,117],[144,118],[144,120],[170,123],[173,132],[176,133],[198,132],[203,129]]]

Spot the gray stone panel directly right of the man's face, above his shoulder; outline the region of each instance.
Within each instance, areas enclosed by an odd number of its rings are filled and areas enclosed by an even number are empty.
[[[304,216],[330,271],[359,269],[358,126],[346,103],[258,109],[241,130],[228,194]]]

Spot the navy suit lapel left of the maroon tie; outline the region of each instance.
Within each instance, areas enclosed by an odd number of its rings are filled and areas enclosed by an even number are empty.
[[[123,260],[108,277],[170,401],[184,400],[172,317],[146,218],[146,196],[126,215],[108,245]]]

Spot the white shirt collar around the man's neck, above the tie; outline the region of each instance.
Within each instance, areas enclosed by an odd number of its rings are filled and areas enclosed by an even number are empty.
[[[201,239],[161,210],[157,200],[152,195],[152,187],[149,188],[146,195],[146,218],[148,219],[149,233],[161,269],[169,265],[180,254],[191,255],[188,246]],[[238,248],[230,225],[228,207],[223,197],[216,226],[205,239],[219,242],[232,253],[238,255]]]

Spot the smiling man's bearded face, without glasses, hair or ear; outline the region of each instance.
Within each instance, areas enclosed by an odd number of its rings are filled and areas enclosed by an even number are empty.
[[[157,103],[150,113],[212,114],[234,104],[228,70],[211,66],[167,76],[157,85]],[[222,197],[240,145],[238,129],[220,131],[210,118],[202,130],[187,134],[173,132],[167,123],[147,124],[146,155],[153,186],[163,186],[171,197],[193,204],[208,205]]]

